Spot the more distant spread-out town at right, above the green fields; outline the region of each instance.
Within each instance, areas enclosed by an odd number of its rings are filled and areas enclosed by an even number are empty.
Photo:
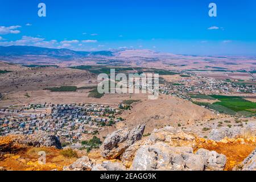
[[[236,84],[230,81],[208,77],[188,77],[175,83],[166,83],[159,88],[160,93],[170,94],[185,100],[191,100],[189,94],[232,94],[256,93],[254,85]]]

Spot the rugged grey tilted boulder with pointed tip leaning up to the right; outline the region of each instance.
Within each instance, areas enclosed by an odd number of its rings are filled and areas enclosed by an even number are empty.
[[[101,146],[101,154],[106,159],[115,159],[126,148],[142,138],[145,126],[139,125],[133,130],[122,129],[108,135]]]

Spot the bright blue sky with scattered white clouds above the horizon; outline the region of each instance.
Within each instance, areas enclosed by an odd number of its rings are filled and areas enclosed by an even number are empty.
[[[38,16],[40,2],[46,3],[46,17]],[[211,2],[217,4],[214,18],[208,15]],[[9,0],[0,3],[0,46],[256,55],[255,32],[254,0]]]

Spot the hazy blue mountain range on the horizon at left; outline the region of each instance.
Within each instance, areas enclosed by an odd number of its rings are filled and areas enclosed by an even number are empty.
[[[53,49],[34,46],[0,46],[0,56],[26,56],[44,55],[51,57],[88,57],[88,56],[113,56],[111,51],[72,51],[70,49]]]

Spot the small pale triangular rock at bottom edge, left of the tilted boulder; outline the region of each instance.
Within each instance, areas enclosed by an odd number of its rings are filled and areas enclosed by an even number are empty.
[[[92,169],[92,163],[88,156],[83,156],[77,159],[75,163],[70,166],[63,167],[63,171],[90,171]]]

